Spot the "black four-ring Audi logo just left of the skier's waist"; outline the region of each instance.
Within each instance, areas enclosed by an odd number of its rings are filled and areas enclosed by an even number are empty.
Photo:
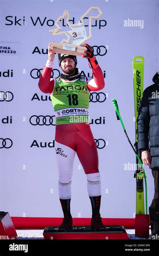
[[[56,125],[55,116],[31,116],[29,121],[32,125]]]

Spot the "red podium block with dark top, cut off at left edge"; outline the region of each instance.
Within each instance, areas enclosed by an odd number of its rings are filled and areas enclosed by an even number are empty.
[[[8,212],[0,212],[0,240],[16,239],[17,233],[15,231],[13,222]]]

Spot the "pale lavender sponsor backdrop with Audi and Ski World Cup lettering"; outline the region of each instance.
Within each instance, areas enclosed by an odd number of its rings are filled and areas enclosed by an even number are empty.
[[[55,116],[49,94],[38,87],[48,59],[49,29],[64,9],[71,23],[80,22],[91,7],[103,11],[92,21],[96,58],[103,71],[105,88],[91,93],[90,125],[99,154],[102,198],[101,217],[135,218],[135,154],[116,119],[115,98],[132,143],[135,141],[132,59],[145,58],[144,89],[158,71],[157,1],[1,1],[1,139],[0,211],[11,216],[63,217],[58,196],[55,157]],[[89,15],[98,15],[92,11]],[[84,19],[86,32],[89,16]],[[63,30],[70,30],[65,20]],[[66,38],[66,37],[65,37]],[[92,76],[88,60],[77,57],[81,74]],[[55,55],[52,77],[61,69]],[[3,93],[4,92],[4,93]],[[145,166],[148,206],[154,195],[151,169]],[[77,155],[72,178],[72,217],[91,217],[87,179]]]

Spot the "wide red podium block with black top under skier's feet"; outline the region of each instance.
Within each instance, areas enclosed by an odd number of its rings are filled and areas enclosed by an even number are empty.
[[[123,226],[105,226],[99,230],[90,229],[90,226],[73,226],[71,230],[60,230],[58,227],[46,227],[43,236],[45,239],[129,239]]]

